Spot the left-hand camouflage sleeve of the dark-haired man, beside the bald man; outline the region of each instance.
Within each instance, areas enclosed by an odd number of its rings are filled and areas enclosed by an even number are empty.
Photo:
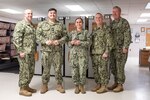
[[[37,42],[40,42],[41,44],[45,44],[47,40],[45,39],[41,26],[42,26],[42,23],[39,23],[37,26],[36,39],[37,39]]]

